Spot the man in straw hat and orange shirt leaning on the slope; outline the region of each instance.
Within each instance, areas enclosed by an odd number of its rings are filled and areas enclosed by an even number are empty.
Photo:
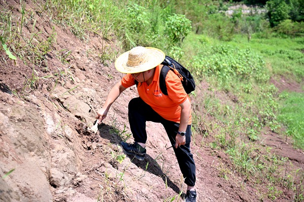
[[[120,94],[137,83],[139,97],[133,98],[128,106],[130,129],[135,143],[121,142],[121,145],[127,154],[143,160],[146,154],[146,121],[161,123],[171,144],[174,145],[173,149],[187,184],[185,201],[194,202],[197,194],[194,188],[196,167],[190,151],[191,102],[180,78],[173,71],[169,71],[166,76],[168,95],[164,95],[160,90],[159,77],[164,59],[163,51],[144,47],[135,47],[119,56],[115,67],[127,74],[110,90],[96,118],[101,123]]]

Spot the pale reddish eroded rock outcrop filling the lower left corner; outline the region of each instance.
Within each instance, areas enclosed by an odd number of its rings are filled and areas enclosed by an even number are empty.
[[[41,103],[0,94],[8,101],[0,102],[0,171],[14,169],[0,178],[0,200],[53,201],[54,188],[65,190],[78,173],[80,154],[71,142],[78,141],[75,131],[56,128],[56,113]]]

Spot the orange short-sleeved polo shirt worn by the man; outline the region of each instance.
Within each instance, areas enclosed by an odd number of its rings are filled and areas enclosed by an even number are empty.
[[[162,65],[158,65],[155,68],[153,81],[149,86],[145,82],[138,84],[139,97],[163,118],[180,123],[181,107],[179,105],[188,99],[189,96],[183,89],[180,78],[173,71],[169,71],[166,76],[168,96],[162,93],[159,86],[161,67]],[[121,82],[125,88],[135,85],[135,79],[131,74],[126,74]],[[192,116],[190,114],[188,125],[191,125],[191,123]]]

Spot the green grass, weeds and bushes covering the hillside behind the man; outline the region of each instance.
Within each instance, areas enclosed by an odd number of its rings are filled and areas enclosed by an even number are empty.
[[[57,82],[62,75],[72,79],[68,68],[49,71],[47,53],[54,51],[60,62],[68,63],[66,58],[72,50],[53,50],[56,31],[53,29],[43,39],[42,32],[35,28],[36,15],[46,15],[54,24],[70,29],[84,43],[90,40],[89,33],[94,33],[115,39],[122,51],[134,46],[160,48],[191,70],[198,84],[202,81],[209,84],[203,99],[193,93],[197,102],[193,112],[194,138],[214,135],[210,146],[229,154],[233,170],[239,175],[247,180],[255,179],[253,183],[257,185],[267,179],[269,192],[263,193],[263,197],[275,201],[284,194],[276,186],[283,185],[292,190],[293,201],[303,199],[303,171],[283,175],[280,165],[287,159],[259,146],[262,129],[270,128],[278,135],[294,137],[294,146],[304,148],[304,112],[298,110],[304,108],[303,94],[279,95],[269,81],[270,77],[284,76],[302,82],[303,38],[275,32],[278,27],[272,29],[259,12],[243,15],[237,10],[230,18],[226,17],[227,5],[222,2],[183,2],[184,7],[157,0],[34,2],[37,10],[27,11],[25,2],[20,1],[19,16],[12,15],[10,8],[1,8],[1,52],[32,66],[32,76],[26,79],[23,91],[16,94],[35,90],[40,79],[52,77]],[[181,8],[188,8],[188,12]],[[23,31],[24,27],[29,33]],[[282,33],[284,37],[279,37]],[[105,45],[95,54],[101,63],[108,65],[118,53]],[[6,62],[5,58],[2,56],[1,60]],[[38,75],[36,69],[45,74]],[[233,95],[234,99],[218,97],[215,91]],[[213,119],[207,119],[206,114]],[[294,181],[295,178],[300,181]]]

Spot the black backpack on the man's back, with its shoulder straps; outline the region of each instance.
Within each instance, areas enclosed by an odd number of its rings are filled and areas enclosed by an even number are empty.
[[[169,56],[165,57],[165,60],[161,63],[164,65],[160,72],[160,88],[164,95],[168,95],[166,87],[166,76],[167,73],[172,70],[181,80],[181,84],[187,94],[195,90],[195,81],[191,73],[176,60],[170,58]],[[136,87],[138,85],[137,80],[135,80]]]

